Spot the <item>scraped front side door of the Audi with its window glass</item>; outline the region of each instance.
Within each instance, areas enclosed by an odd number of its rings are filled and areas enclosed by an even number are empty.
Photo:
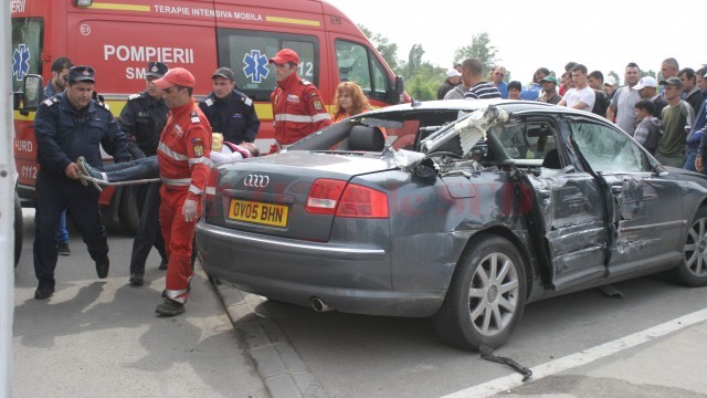
[[[609,276],[662,266],[680,258],[683,202],[677,181],[653,172],[643,148],[625,133],[571,119],[571,145],[600,185],[609,208]]]

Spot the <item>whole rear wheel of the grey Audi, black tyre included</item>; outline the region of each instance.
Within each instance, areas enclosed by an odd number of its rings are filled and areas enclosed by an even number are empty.
[[[508,240],[497,235],[475,239],[460,259],[444,303],[432,317],[437,335],[465,349],[503,345],[523,316],[525,270],[518,249]]]

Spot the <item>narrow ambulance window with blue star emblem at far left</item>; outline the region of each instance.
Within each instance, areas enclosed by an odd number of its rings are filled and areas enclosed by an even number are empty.
[[[42,74],[42,32],[40,18],[12,19],[12,91],[22,91],[22,81],[29,73]],[[46,82],[44,82],[46,83]]]

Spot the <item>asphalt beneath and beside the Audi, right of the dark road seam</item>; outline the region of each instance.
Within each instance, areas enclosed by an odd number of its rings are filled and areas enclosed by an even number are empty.
[[[615,287],[625,294],[624,298],[609,297],[598,290],[590,290],[528,305],[510,342],[495,354],[532,369],[707,306],[707,289],[677,286],[661,276],[624,282]],[[506,365],[445,345],[424,318],[315,313],[309,308],[267,301],[260,306],[256,311],[268,314],[279,326],[330,397],[442,397],[509,375],[520,378]],[[634,386],[637,390],[626,389],[630,394],[621,395],[621,389],[618,389],[610,396],[652,396],[636,391],[690,396],[685,395],[690,389],[656,390],[656,386],[665,386],[661,385],[659,378],[650,379],[645,374],[646,369],[655,368],[663,371],[671,383],[684,380],[682,386],[707,395],[707,378],[698,370],[707,366],[707,343],[704,338],[695,338],[705,335],[707,324],[701,322],[677,334],[656,338],[655,342],[663,344],[667,344],[664,342],[668,338],[675,341],[665,346],[658,344],[657,348],[645,353],[640,363],[633,364],[634,367],[621,373],[609,373],[601,379],[590,377],[583,367],[574,367],[564,374],[553,375],[556,378],[530,379],[523,384],[518,394],[606,396],[600,394],[602,388],[629,388],[633,386],[634,378],[640,378],[643,384]],[[671,350],[672,345],[680,346],[683,349],[678,353],[687,355],[676,355]],[[641,353],[644,348],[641,346],[633,353]],[[631,358],[632,354],[616,352],[601,360],[614,366],[625,362],[626,355]],[[684,371],[684,368],[694,370]],[[608,384],[609,380],[614,383]]]

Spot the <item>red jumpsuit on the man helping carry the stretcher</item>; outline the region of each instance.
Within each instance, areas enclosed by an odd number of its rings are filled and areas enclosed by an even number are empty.
[[[159,219],[169,264],[167,296],[180,303],[187,301],[187,287],[192,276],[191,251],[201,196],[209,179],[211,160],[211,125],[201,109],[190,101],[172,108],[157,148],[162,179]],[[187,199],[198,202],[197,217],[187,222],[181,213]]]

